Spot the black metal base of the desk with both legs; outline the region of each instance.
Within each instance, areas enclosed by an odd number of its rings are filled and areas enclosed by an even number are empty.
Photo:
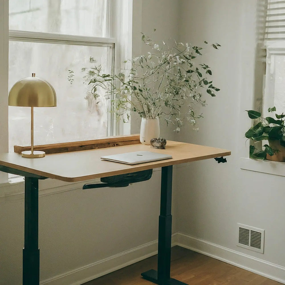
[[[40,250],[38,248],[38,180],[46,177],[0,165],[0,171],[25,176],[25,243],[23,249],[23,285],[39,285]],[[160,216],[158,222],[158,270],[141,275],[159,285],[187,285],[170,278],[172,165],[161,168]]]

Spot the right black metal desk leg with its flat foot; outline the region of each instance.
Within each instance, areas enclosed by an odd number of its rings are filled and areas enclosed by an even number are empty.
[[[170,278],[171,252],[171,196],[172,165],[161,168],[160,216],[158,221],[158,261],[157,271],[148,270],[141,275],[144,279],[159,285],[187,285]]]

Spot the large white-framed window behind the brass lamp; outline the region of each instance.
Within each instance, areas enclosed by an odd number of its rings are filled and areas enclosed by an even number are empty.
[[[10,151],[14,144],[30,144],[29,108],[10,106],[8,120],[7,94],[32,72],[52,84],[58,101],[55,108],[34,109],[35,145],[130,133],[129,124],[115,122],[106,112],[108,102],[96,104],[89,95],[81,68],[102,64],[106,72],[113,72],[131,58],[132,4],[131,0],[1,1],[1,152],[8,151],[8,143]],[[74,70],[72,84],[68,70]],[[0,172],[0,183],[7,181]]]

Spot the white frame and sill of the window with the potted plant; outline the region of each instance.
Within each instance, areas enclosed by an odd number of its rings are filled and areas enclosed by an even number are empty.
[[[251,159],[249,158],[249,141],[247,141],[247,143],[245,144],[246,138],[244,135],[252,123],[245,110],[255,110],[257,105],[261,103],[257,103],[256,97],[260,99],[260,95],[257,93],[261,88],[262,90],[264,90],[265,84],[264,73],[263,79],[261,78],[261,74],[257,74],[257,70],[258,72],[262,72],[260,68],[257,68],[257,65],[262,62],[262,58],[257,55],[257,53],[262,53],[262,43],[257,42],[256,30],[254,28],[252,30],[249,28],[256,27],[257,15],[252,15],[251,13],[251,11],[256,10],[256,7],[251,7],[251,9],[248,9],[248,5],[255,6],[256,2],[243,2],[243,11],[245,11],[245,13],[243,15],[244,19],[242,21],[242,38],[243,41],[246,42],[246,44],[244,44],[242,47],[243,64],[241,66],[241,102],[238,132],[239,138],[237,139],[239,141],[239,148],[237,149],[237,151],[240,154],[239,168],[243,170],[285,176],[285,162]],[[274,52],[278,53],[278,48],[276,47],[268,48],[268,50],[268,52],[272,52],[272,54],[274,54]],[[255,58],[255,60],[253,60],[253,57]],[[262,86],[260,85],[260,83]],[[256,90],[258,90],[258,92]],[[262,98],[265,103],[264,106],[270,102],[270,98],[264,98],[264,94],[262,94]]]

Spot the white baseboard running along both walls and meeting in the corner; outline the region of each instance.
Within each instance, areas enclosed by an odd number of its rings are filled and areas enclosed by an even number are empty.
[[[43,280],[40,285],[80,285],[135,262],[157,254],[158,241],[151,241],[138,247],[123,251],[111,257],[82,266],[75,270],[60,274],[58,276]],[[260,258],[246,255],[239,251],[222,247],[215,243],[186,235],[174,233],[172,235],[172,246],[191,249],[198,253],[227,262],[239,268],[251,271],[266,278],[285,284],[285,267]]]

